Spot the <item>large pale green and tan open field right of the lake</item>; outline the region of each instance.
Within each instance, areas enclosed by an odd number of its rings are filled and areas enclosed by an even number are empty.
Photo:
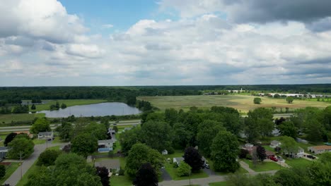
[[[200,96],[176,96],[176,97],[138,97],[138,99],[151,102],[153,106],[158,107],[162,111],[168,108],[188,110],[191,106],[197,106],[201,109],[209,109],[211,106],[228,106],[238,109],[240,113],[247,113],[252,109],[259,107],[272,108],[276,107],[277,111],[288,107],[290,110],[305,108],[306,106],[314,106],[323,109],[331,106],[331,103],[321,101],[303,101],[295,99],[293,104],[287,104],[285,99],[274,99],[268,97],[260,97],[261,104],[253,104],[255,97],[246,95],[200,95]]]

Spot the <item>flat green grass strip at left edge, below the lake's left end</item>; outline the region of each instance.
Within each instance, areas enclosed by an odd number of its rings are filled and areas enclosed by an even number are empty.
[[[11,121],[32,121],[34,118],[45,117],[45,113],[16,113],[0,114],[0,123],[11,123]]]

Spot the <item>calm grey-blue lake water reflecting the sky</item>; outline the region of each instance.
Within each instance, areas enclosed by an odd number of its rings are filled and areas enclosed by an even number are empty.
[[[139,109],[128,106],[127,104],[111,102],[102,104],[89,104],[79,106],[69,106],[66,109],[58,111],[39,111],[37,113],[46,113],[48,118],[66,118],[71,115],[79,116],[122,116],[141,113]]]

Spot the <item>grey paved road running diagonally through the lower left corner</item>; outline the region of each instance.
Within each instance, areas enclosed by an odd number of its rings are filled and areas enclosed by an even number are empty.
[[[51,144],[50,142],[47,144],[48,147],[54,147],[54,146],[61,146],[64,144]],[[36,144],[35,145],[35,151],[33,154],[31,154],[28,159],[23,160],[23,163],[21,167],[18,167],[16,171],[9,177],[4,184],[9,184],[9,185],[16,185],[19,180],[21,180],[21,168],[22,168],[22,176],[29,170],[29,168],[35,163],[39,155],[45,151],[46,149],[46,144]]]

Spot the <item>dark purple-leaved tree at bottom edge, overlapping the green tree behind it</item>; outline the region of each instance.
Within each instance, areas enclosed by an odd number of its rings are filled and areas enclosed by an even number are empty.
[[[151,163],[144,163],[139,168],[133,181],[135,186],[158,186],[158,174]]]

